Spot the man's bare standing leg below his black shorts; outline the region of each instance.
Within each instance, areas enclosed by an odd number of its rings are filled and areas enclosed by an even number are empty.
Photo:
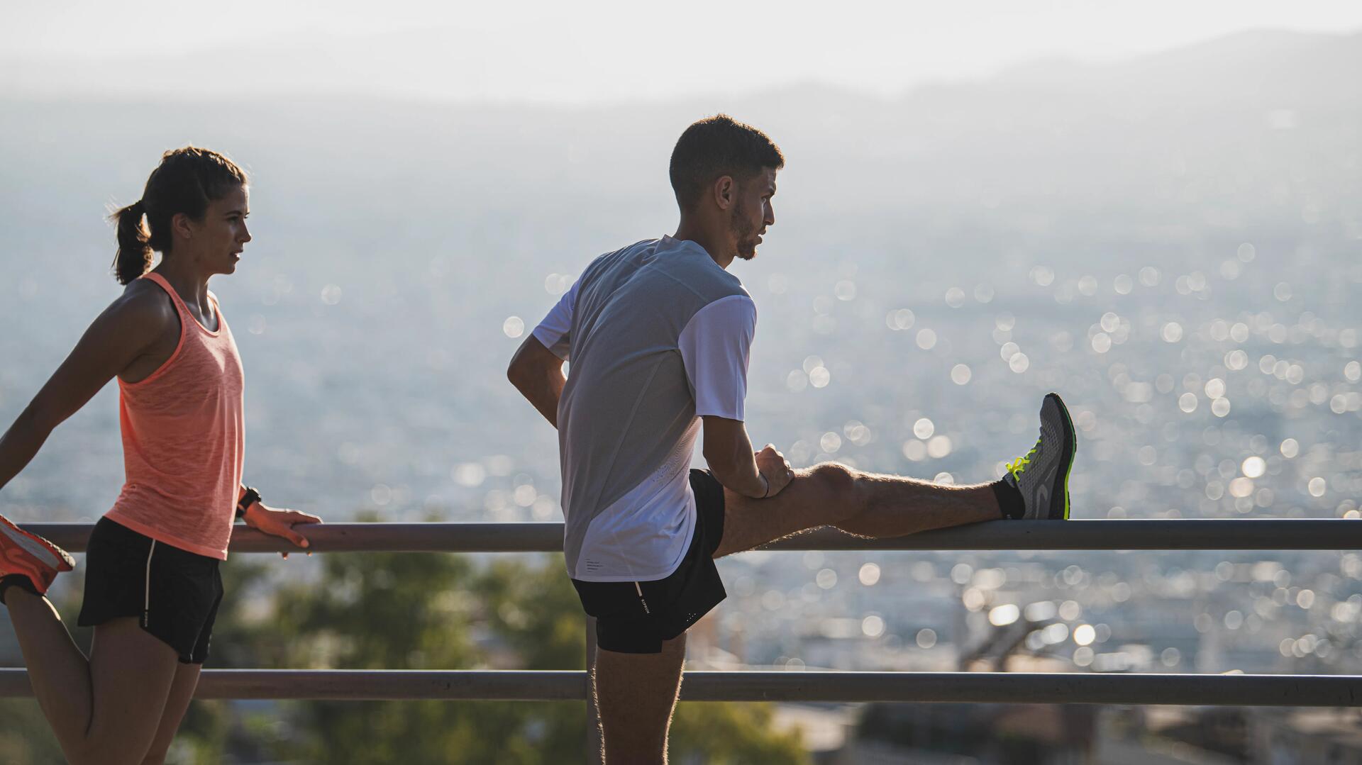
[[[663,641],[661,653],[597,648],[591,690],[601,711],[606,765],[666,764],[684,663],[685,633]]]

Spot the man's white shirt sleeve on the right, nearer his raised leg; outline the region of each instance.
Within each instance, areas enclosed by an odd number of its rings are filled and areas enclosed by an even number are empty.
[[[701,308],[677,344],[696,417],[741,421],[748,396],[748,351],[757,329],[757,306],[748,295],[729,295]]]

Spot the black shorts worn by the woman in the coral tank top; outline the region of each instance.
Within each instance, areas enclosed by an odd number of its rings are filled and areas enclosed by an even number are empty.
[[[99,519],[86,547],[86,593],[76,623],[135,617],[174,648],[180,662],[202,664],[222,602],[218,564]]]

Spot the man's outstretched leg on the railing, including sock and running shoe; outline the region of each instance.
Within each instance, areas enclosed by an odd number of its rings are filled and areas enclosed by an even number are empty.
[[[1041,440],[996,483],[941,486],[874,475],[836,463],[795,471],[768,500],[725,490],[723,540],[714,557],[750,550],[810,528],[834,525],[859,536],[903,536],[1004,517],[1069,517],[1075,433],[1054,393],[1041,407]]]

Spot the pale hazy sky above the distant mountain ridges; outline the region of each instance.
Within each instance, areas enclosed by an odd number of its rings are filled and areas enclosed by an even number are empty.
[[[301,82],[321,91],[560,102],[808,80],[888,94],[923,79],[1046,57],[1121,59],[1248,29],[1362,29],[1357,0],[75,0],[10,3],[0,14],[0,60],[34,67],[20,76],[41,76],[42,64],[86,65],[67,79],[121,87],[109,59],[195,57],[222,72],[214,87],[238,67],[244,79],[262,80],[238,83],[242,90]],[[252,61],[268,61],[268,74]]]

